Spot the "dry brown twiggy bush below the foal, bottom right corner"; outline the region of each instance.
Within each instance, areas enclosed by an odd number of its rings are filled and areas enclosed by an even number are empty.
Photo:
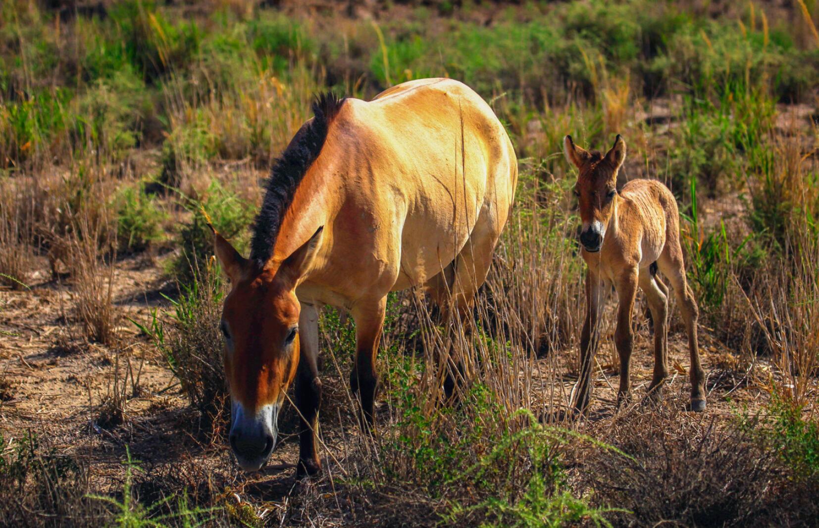
[[[622,415],[601,440],[633,458],[600,451],[584,467],[595,503],[633,512],[616,514],[615,524],[774,526],[816,518],[816,506],[803,504],[809,486],[789,485],[780,454],[758,440],[754,430],[764,422],[750,417],[723,428],[692,420],[682,408],[675,401]]]

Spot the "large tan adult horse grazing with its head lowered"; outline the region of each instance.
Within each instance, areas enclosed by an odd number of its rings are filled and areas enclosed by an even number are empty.
[[[274,448],[294,378],[296,474],[321,469],[322,305],[355,320],[350,386],[362,426],[372,426],[387,293],[423,287],[463,313],[486,279],[518,179],[504,127],[455,80],[399,84],[371,102],[325,95],[313,111],[273,167],[250,258],[215,233],[231,282],[221,321],[229,438],[246,471]]]

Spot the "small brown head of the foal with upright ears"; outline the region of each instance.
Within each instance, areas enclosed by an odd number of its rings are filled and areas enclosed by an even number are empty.
[[[614,211],[617,196],[617,173],[626,159],[626,142],[620,134],[614,146],[603,156],[599,151],[586,151],[577,147],[571,136],[563,139],[566,159],[577,166],[577,184],[574,194],[580,203],[580,219],[583,228],[580,242],[586,251],[595,253],[603,246],[606,226]]]

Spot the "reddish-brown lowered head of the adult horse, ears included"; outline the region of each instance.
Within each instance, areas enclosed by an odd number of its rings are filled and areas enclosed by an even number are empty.
[[[245,471],[276,444],[278,411],[299,363],[296,286],[310,269],[321,228],[279,263],[244,259],[218,233],[215,250],[231,282],[224,300],[224,373],[231,399],[230,445]]]

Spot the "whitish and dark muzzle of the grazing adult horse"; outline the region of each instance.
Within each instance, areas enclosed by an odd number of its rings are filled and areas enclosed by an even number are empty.
[[[265,405],[248,415],[242,404],[234,403],[232,410],[229,439],[236,461],[246,472],[259,471],[276,445],[278,406]]]

